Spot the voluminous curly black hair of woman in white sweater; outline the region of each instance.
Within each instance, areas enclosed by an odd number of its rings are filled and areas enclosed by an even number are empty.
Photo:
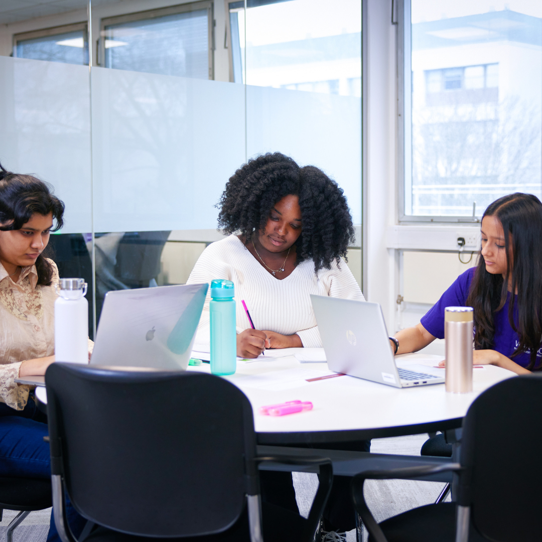
[[[301,235],[297,263],[314,261],[314,272],[346,260],[355,232],[343,189],[315,166],[299,167],[280,152],[248,160],[232,175],[220,202],[218,227],[246,241],[263,231],[272,207],[283,197],[299,197]]]

